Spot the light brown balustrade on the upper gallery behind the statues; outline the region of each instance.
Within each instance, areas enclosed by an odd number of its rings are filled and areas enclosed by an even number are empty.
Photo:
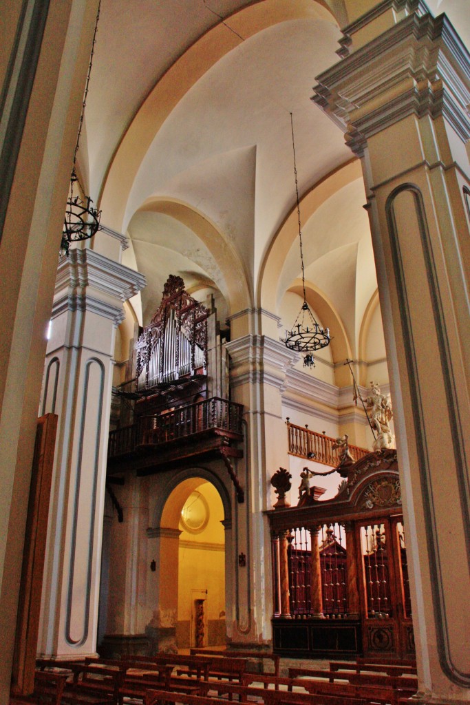
[[[340,462],[338,450],[333,450],[333,445],[336,439],[318,434],[316,431],[311,431],[307,427],[295,426],[287,420],[287,442],[288,453],[297,455],[298,458],[306,460],[315,460],[323,465],[336,467]],[[349,444],[349,449],[354,460],[364,458],[364,455],[370,453],[366,448],[359,448]]]

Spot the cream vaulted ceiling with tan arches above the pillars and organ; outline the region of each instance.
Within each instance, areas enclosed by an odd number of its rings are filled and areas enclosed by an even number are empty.
[[[467,3],[434,0],[431,10],[449,11],[468,39]],[[269,277],[280,312],[300,274],[295,228],[269,261],[295,214],[292,112],[307,280],[357,350],[376,290],[364,185],[311,94],[338,61],[339,23],[367,5],[101,1],[79,163],[102,221],[130,236],[125,263],[147,276],[144,323],[171,273],[220,293],[231,313],[260,305]]]

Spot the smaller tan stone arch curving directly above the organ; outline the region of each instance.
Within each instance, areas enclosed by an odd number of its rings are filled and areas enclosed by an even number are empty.
[[[221,293],[230,312],[236,313],[250,306],[252,295],[245,266],[233,245],[206,216],[181,201],[161,197],[147,199],[137,212],[165,214],[190,228],[217,262],[225,283],[225,290],[221,289]]]

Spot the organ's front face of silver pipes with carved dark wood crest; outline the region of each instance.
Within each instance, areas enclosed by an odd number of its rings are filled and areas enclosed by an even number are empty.
[[[138,391],[206,374],[209,315],[185,291],[181,277],[168,278],[161,304],[135,346]]]

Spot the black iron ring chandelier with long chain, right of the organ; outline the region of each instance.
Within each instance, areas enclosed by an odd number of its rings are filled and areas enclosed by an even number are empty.
[[[290,114],[290,127],[292,129],[292,151],[294,152],[295,194],[297,197],[297,219],[299,221],[300,262],[302,264],[302,288],[304,291],[304,302],[297,318],[295,319],[295,324],[292,326],[292,330],[285,331],[285,338],[283,342],[289,350],[295,350],[297,353],[304,355],[304,367],[315,367],[314,353],[316,353],[316,350],[326,348],[326,346],[330,344],[330,331],[328,328],[321,328],[319,323],[316,321],[314,314],[312,314],[309,305],[307,304],[307,296],[305,294],[302,227],[300,225],[299,184],[297,182],[294,122],[292,120],[292,113]]]

